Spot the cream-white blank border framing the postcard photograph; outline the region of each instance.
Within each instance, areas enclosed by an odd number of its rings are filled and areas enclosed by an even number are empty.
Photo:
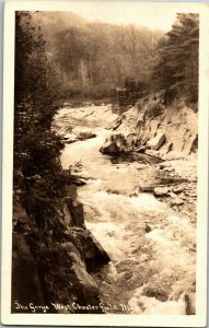
[[[76,1],[76,0],[74,0]],[[14,118],[14,20],[15,11],[73,11],[74,1],[5,1],[3,51],[3,167],[2,167],[2,263],[1,323],[4,325],[205,327],[207,316],[208,222],[208,107],[209,107],[209,4],[207,2],[140,2],[167,12],[194,12],[200,16],[198,203],[197,203],[197,314],[186,315],[62,315],[11,314],[12,189]],[[107,1],[80,1],[105,5]],[[112,1],[113,7],[115,2]],[[126,1],[127,9],[133,1]]]

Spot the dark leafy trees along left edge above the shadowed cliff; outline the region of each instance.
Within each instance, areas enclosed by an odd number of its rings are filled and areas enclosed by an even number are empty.
[[[57,74],[45,51],[42,31],[28,12],[15,16],[14,77],[14,189],[34,175],[53,176],[59,172],[57,157],[62,148],[51,132],[57,110]],[[46,189],[51,190],[55,179]]]

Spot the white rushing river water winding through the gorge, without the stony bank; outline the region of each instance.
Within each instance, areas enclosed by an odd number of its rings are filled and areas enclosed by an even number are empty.
[[[142,179],[155,178],[154,165],[101,154],[112,131],[85,110],[63,108],[56,122],[66,132],[71,127],[97,136],[66,144],[61,163],[80,163],[79,175],[88,178],[78,188],[86,226],[112,259],[93,273],[106,313],[185,314],[184,293],[195,285],[195,229],[152,194],[136,192]]]

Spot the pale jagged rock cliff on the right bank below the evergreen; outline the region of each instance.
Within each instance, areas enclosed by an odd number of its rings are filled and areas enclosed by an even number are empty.
[[[197,151],[197,110],[184,99],[171,106],[159,95],[140,99],[115,120],[113,130],[101,149],[104,153],[135,150],[173,160]]]

